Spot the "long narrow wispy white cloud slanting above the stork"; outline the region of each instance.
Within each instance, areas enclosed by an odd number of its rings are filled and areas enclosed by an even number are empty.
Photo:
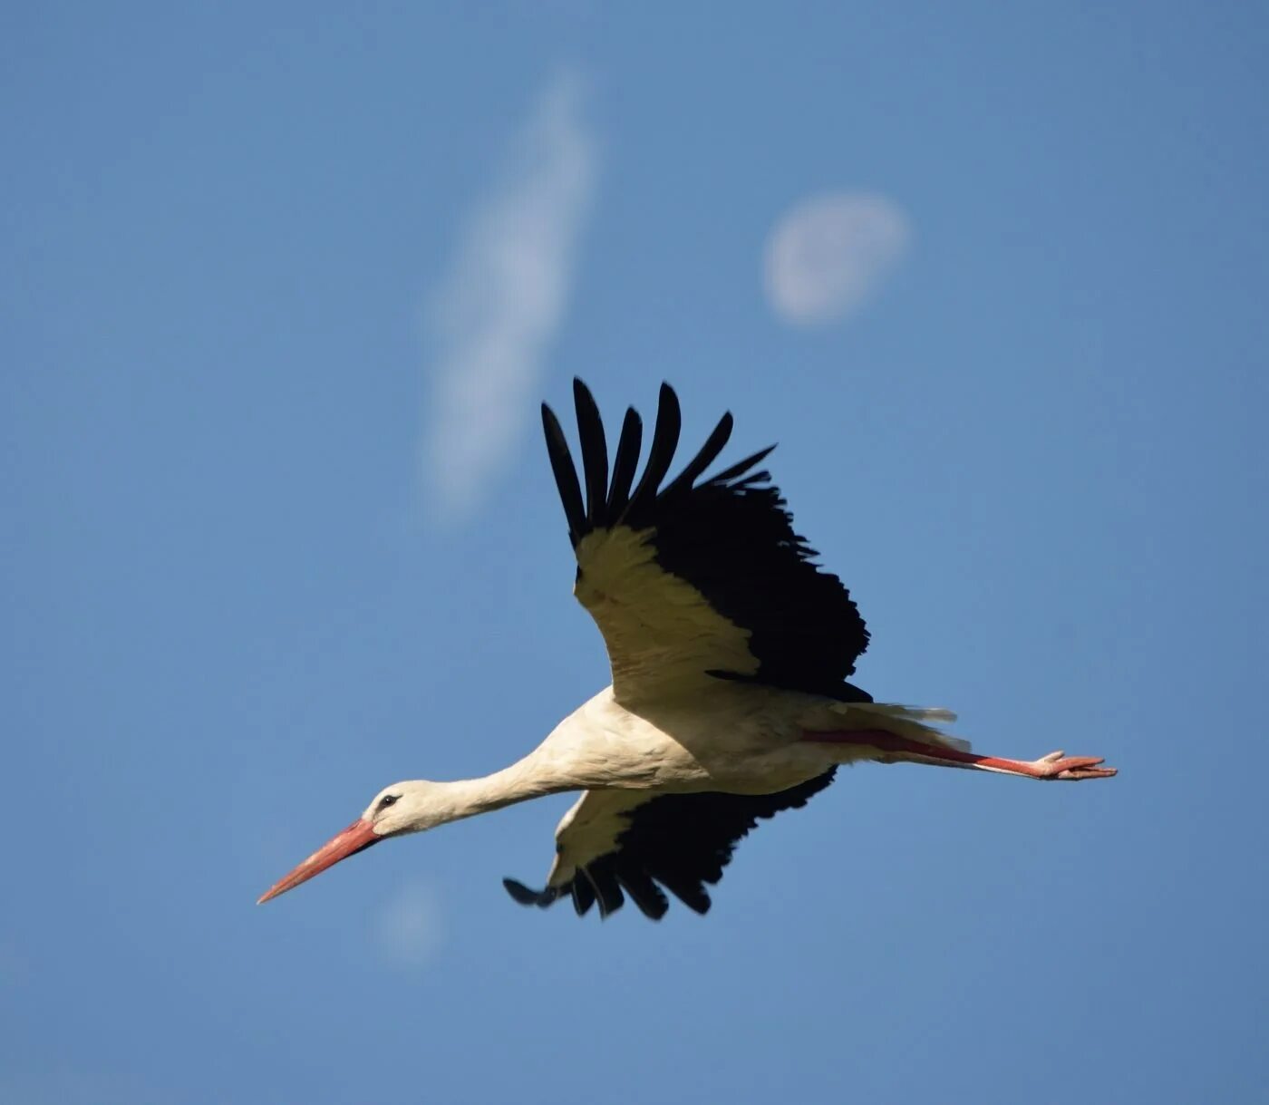
[[[511,457],[563,320],[596,175],[584,98],[575,74],[547,84],[429,303],[424,478],[450,520]]]

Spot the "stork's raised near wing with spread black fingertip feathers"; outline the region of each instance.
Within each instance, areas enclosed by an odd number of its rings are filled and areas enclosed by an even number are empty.
[[[816,567],[815,549],[793,532],[769,473],[754,471],[772,449],[697,482],[731,436],[726,414],[662,486],[680,411],[674,389],[661,384],[636,485],[638,414],[626,412],[609,476],[604,425],[581,381],[574,400],[585,497],[546,403],[542,424],[577,557],[574,594],[604,636],[618,702],[689,691],[717,675],[838,696],[868,631],[841,581]]]

